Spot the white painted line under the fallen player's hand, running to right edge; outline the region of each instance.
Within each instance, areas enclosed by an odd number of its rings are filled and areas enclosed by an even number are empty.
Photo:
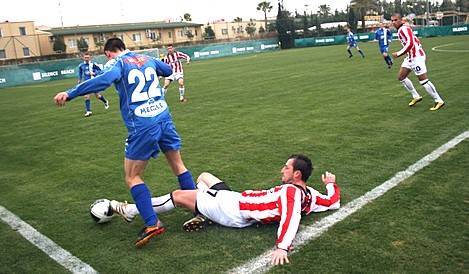
[[[375,187],[374,189],[368,191],[363,196],[347,203],[345,206],[341,207],[335,213],[324,217],[323,219],[321,219],[318,222],[313,223],[312,225],[304,226],[302,230],[295,237],[295,240],[293,242],[293,246],[295,247],[295,249],[291,253],[298,251],[298,249],[301,246],[321,236],[321,234],[326,232],[329,228],[331,228],[336,223],[347,218],[349,215],[355,213],[364,205],[379,198],[388,190],[397,186],[399,183],[409,178],[410,176],[414,175],[416,172],[418,172],[422,168],[428,166],[431,162],[439,158],[445,152],[455,147],[457,144],[459,144],[460,142],[462,142],[468,137],[469,137],[469,130],[461,133],[460,135],[454,137],[451,141],[435,149],[432,153],[423,157],[422,159],[417,161],[415,164],[409,166],[406,170],[399,171],[391,179]],[[262,272],[265,272],[269,270],[270,268],[272,268],[272,265],[270,264],[270,260],[271,260],[270,254],[273,251],[274,249],[269,249],[263,254],[259,255],[258,257],[249,260],[244,265],[241,265],[241,266],[238,266],[236,268],[229,270],[228,273],[262,273]]]

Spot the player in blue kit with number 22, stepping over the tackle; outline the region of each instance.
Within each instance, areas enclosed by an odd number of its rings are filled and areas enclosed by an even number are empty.
[[[55,97],[58,106],[77,96],[104,90],[114,83],[119,94],[120,110],[128,130],[125,144],[125,181],[145,221],[145,227],[138,234],[137,247],[147,244],[150,239],[165,231],[153,211],[151,193],[143,181],[143,173],[150,158],[161,150],[181,189],[195,189],[192,174],[184,166],[179,149],[181,138],[176,132],[164,93],[161,92],[158,76],[167,77],[171,67],[160,60],[126,50],[119,38],[110,38],[104,45],[108,62],[102,74],[85,81],[67,92]]]

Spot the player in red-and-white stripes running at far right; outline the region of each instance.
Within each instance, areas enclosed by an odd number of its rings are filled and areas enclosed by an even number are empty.
[[[433,98],[435,104],[430,110],[439,110],[445,105],[441,99],[440,94],[436,91],[435,86],[427,77],[427,67],[425,65],[425,52],[423,51],[420,40],[415,36],[409,24],[406,24],[399,13],[391,16],[391,22],[397,29],[397,35],[403,48],[397,52],[393,52],[392,56],[397,58],[406,55],[404,62],[399,70],[398,79],[402,85],[412,94],[412,101],[409,106],[415,106],[418,102],[422,101],[422,96],[415,90],[412,82],[407,78],[411,71],[420,81],[420,84],[425,88],[428,94]]]

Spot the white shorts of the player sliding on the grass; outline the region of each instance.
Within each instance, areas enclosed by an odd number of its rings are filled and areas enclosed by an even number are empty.
[[[239,210],[241,193],[229,190],[197,190],[197,209],[210,220],[228,227],[246,227],[256,221],[243,218]]]

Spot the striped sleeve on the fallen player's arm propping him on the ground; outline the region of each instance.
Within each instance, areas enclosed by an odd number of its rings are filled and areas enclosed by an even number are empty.
[[[277,248],[289,250],[301,220],[301,190],[285,186],[279,197],[280,224],[277,230]]]

